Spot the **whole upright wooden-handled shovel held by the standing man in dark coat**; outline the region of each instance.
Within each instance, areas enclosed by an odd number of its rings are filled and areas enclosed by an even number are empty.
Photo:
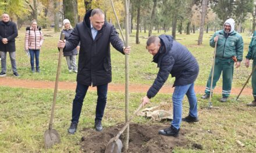
[[[64,41],[65,34],[61,34],[61,40]],[[54,101],[52,103],[52,110],[51,110],[51,119],[49,122],[49,129],[45,131],[44,133],[44,142],[45,142],[45,148],[51,148],[52,145],[55,143],[60,143],[61,140],[59,139],[59,133],[52,129],[52,122],[54,120],[54,109],[56,104],[56,96],[58,92],[58,82],[59,82],[59,74],[61,73],[61,58],[63,54],[63,48],[59,50],[59,61],[58,61],[58,68],[57,68],[57,74],[56,74],[56,80],[55,80],[55,88],[54,88]]]

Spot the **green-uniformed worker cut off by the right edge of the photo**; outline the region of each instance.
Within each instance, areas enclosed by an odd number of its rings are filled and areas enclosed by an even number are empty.
[[[253,38],[251,38],[251,43],[249,46],[249,50],[246,56],[246,67],[249,67],[250,60],[253,60],[253,75],[251,77],[251,85],[253,86],[253,97],[254,100],[247,104],[248,106],[256,107],[256,71],[255,71],[255,65],[256,65],[256,31],[254,31]]]

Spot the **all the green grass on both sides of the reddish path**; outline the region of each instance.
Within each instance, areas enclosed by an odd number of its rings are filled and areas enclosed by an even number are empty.
[[[56,43],[59,33],[51,29],[43,30],[44,34],[52,37],[45,37],[45,42],[40,53],[40,74],[31,74],[30,60],[23,51],[24,48],[24,27],[19,31],[19,38],[16,39],[16,59],[20,74],[19,79],[33,79],[42,81],[55,81],[56,67],[58,63],[58,49]],[[135,31],[133,31],[134,34]],[[159,35],[153,31],[154,35]],[[170,34],[170,32],[168,32]],[[214,49],[209,46],[209,38],[213,32],[204,34],[202,46],[197,46],[197,34],[177,34],[177,41],[187,46],[194,54],[200,64],[200,74],[195,82],[196,85],[205,85],[212,64]],[[140,33],[140,44],[135,44],[135,37],[130,37],[132,53],[130,54],[130,83],[151,85],[157,75],[157,65],[151,63],[152,56],[145,49],[147,34]],[[244,39],[244,56],[247,54],[250,38],[242,34]],[[125,83],[125,56],[112,49],[112,83]],[[7,60],[7,74],[12,74],[9,57]],[[233,86],[240,87],[246,81],[251,68],[241,67],[234,71]],[[169,77],[166,84],[173,83]],[[76,75],[69,74],[65,58],[62,59],[62,72],[60,81],[75,82]],[[222,85],[222,80],[218,86]],[[251,86],[250,83],[248,86]],[[51,112],[53,90],[43,89],[21,89],[0,87],[0,152],[81,152],[80,139],[86,133],[81,131],[84,128],[93,128],[96,92],[88,92],[84,101],[83,110],[79,123],[78,132],[75,135],[67,134],[69,128],[73,90],[61,90],[58,92],[56,101],[56,112],[54,129],[61,135],[61,143],[54,145],[50,150],[44,149],[44,132],[48,129]],[[136,110],[141,97],[145,93],[130,93],[130,112]],[[236,102],[232,95],[228,103],[219,103],[220,94],[213,97],[213,105],[220,107],[219,110],[200,109],[200,106],[207,106],[207,100],[198,97],[198,113],[200,122],[195,124],[182,123],[182,128],[188,130],[186,139],[193,143],[202,144],[204,150],[193,150],[193,148],[176,147],[174,152],[256,152],[255,141],[255,108],[246,107],[251,101],[251,96],[241,96],[240,103]],[[114,126],[125,121],[125,96],[124,93],[109,92],[108,104],[104,115],[104,127]],[[170,94],[158,94],[148,107],[158,105],[162,102],[172,103]],[[188,113],[187,99],[183,101],[183,116]],[[170,108],[172,110],[172,108]],[[140,124],[152,123],[148,119],[137,117],[134,122]],[[156,122],[153,122],[156,123]],[[244,143],[245,147],[236,144],[236,140]]]

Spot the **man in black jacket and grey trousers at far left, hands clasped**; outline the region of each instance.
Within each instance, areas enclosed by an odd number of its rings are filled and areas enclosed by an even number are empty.
[[[0,57],[1,68],[0,77],[6,75],[6,55],[9,52],[10,63],[12,64],[12,71],[15,77],[19,77],[17,73],[16,60],[15,60],[15,38],[18,35],[17,26],[14,22],[10,21],[8,14],[2,14],[2,21],[0,21]]]

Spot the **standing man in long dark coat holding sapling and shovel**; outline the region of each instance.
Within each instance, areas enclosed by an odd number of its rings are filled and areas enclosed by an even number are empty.
[[[105,21],[101,9],[86,13],[84,21],[78,23],[67,41],[59,41],[58,48],[69,52],[80,42],[77,72],[76,96],[73,100],[72,120],[68,132],[74,134],[77,129],[84,97],[89,86],[97,86],[97,106],[95,129],[101,131],[101,120],[106,105],[108,83],[112,81],[110,43],[120,53],[129,54],[130,47],[125,48],[112,24]]]

